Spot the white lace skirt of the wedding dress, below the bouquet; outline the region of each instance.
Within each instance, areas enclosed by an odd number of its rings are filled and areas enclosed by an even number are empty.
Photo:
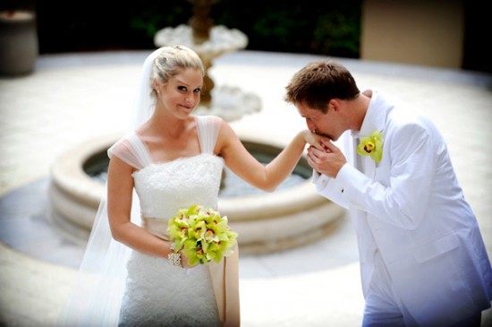
[[[184,270],[133,251],[119,326],[220,326],[207,266]]]

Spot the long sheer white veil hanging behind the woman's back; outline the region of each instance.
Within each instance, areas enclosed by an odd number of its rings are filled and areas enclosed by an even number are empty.
[[[128,132],[135,130],[152,116],[155,102],[151,97],[150,78],[154,60],[162,50],[158,48],[152,52],[143,64]],[[111,149],[108,150],[108,155],[111,156]],[[140,206],[135,193],[132,199],[131,221],[140,225]],[[105,191],[72,292],[62,308],[57,325],[116,326],[123,298],[126,262],[130,254],[131,249],[116,242],[111,235]]]

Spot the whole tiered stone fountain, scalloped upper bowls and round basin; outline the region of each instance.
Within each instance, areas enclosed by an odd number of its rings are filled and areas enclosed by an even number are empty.
[[[228,51],[246,47],[247,38],[239,30],[213,26],[208,19],[214,0],[192,1],[194,16],[190,25],[165,28],[156,34],[158,47],[182,44],[194,48],[209,68],[212,60]],[[202,98],[197,114],[222,116],[231,121],[258,111],[259,97],[238,88],[215,88],[207,76],[208,94]],[[95,178],[107,168],[107,149],[122,135],[96,137],[63,153],[51,169],[49,188],[50,214],[55,226],[72,240],[85,244],[99,202],[105,191],[104,182]],[[238,132],[244,146],[259,161],[273,159],[286,143],[272,142],[259,133]],[[225,171],[225,178],[230,172]],[[231,227],[240,235],[242,254],[265,254],[309,244],[335,227],[344,210],[316,194],[310,183],[311,168],[301,158],[294,170],[295,183],[274,193],[233,196],[219,194],[218,210],[226,215]],[[99,174],[100,176],[100,174]],[[234,186],[233,186],[234,187]],[[234,192],[233,192],[234,194]]]

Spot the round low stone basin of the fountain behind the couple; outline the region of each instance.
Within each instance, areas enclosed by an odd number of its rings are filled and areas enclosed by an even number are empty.
[[[280,144],[241,135],[249,151],[275,156]],[[121,134],[99,136],[59,156],[51,169],[49,217],[72,241],[85,245],[105,192],[104,183],[89,176],[85,168],[106,159],[106,150]],[[310,172],[305,159],[298,168]],[[304,173],[305,174],[305,173]],[[344,210],[318,195],[310,178],[273,193],[221,197],[218,210],[238,232],[242,254],[265,254],[306,245],[323,237],[344,216]]]

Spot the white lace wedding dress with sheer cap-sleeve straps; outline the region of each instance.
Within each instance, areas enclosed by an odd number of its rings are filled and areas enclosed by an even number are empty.
[[[197,116],[196,119],[199,155],[153,162],[136,133],[116,142],[108,151],[110,156],[115,155],[139,169],[133,178],[142,226],[157,237],[167,239],[167,220],[179,209],[192,204],[217,208],[224,161],[213,150],[220,118]],[[164,258],[132,251],[127,272],[120,326],[221,325],[216,296],[223,297],[224,293],[219,290],[223,294],[215,294],[208,265],[186,270]],[[224,281],[224,276],[218,278]],[[237,275],[232,278],[237,282]]]

